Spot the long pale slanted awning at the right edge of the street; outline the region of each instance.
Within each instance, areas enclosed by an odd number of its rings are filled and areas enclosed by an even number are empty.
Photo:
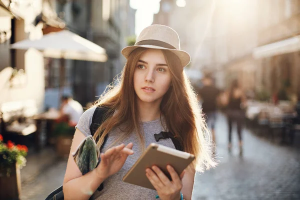
[[[291,53],[300,50],[300,35],[258,46],[253,50],[255,59]]]

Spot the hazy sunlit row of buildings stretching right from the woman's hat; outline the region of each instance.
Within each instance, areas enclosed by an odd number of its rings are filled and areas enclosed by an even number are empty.
[[[153,23],[173,27],[191,54],[189,67],[213,72],[219,87],[238,79],[244,90],[300,92],[300,0],[198,0],[185,7],[161,0],[160,6]]]

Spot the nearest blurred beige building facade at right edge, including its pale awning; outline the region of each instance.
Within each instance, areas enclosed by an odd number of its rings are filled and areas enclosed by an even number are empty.
[[[257,81],[270,94],[300,94],[300,0],[260,1],[259,10]]]

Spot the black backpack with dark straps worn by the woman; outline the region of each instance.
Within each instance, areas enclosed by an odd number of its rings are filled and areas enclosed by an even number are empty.
[[[109,116],[106,115],[106,113],[108,112],[109,108],[108,107],[104,107],[104,106],[97,106],[93,115],[92,115],[92,119],[91,119],[91,124],[89,126],[89,130],[90,130],[90,134],[94,135],[94,133],[96,132],[96,130],[98,129],[98,127],[102,124],[102,122]],[[98,138],[101,136],[102,132],[99,134]],[[107,140],[108,135],[105,135],[104,137],[104,141],[102,143],[102,145],[100,146],[100,151],[102,150],[106,140]],[[182,146],[181,143],[178,141],[177,138],[175,138],[170,132],[165,132],[165,131],[161,131],[158,134],[154,134],[155,140],[158,141],[161,138],[171,138],[175,148],[177,150],[181,150],[182,151]],[[96,142],[98,140],[98,138],[96,138]],[[100,184],[100,186],[97,188],[98,191],[101,191],[103,189],[103,183]],[[58,188],[56,188],[55,190],[53,190],[46,198],[45,200],[63,200],[63,190],[62,190],[62,185]]]

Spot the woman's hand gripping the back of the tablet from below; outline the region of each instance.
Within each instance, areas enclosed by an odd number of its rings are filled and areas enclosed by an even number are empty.
[[[172,180],[169,180],[160,168],[155,165],[153,165],[151,169],[146,169],[146,176],[156,189],[161,200],[179,200],[182,188],[182,177],[185,170],[178,175],[170,165],[167,165],[166,168],[170,173]]]

